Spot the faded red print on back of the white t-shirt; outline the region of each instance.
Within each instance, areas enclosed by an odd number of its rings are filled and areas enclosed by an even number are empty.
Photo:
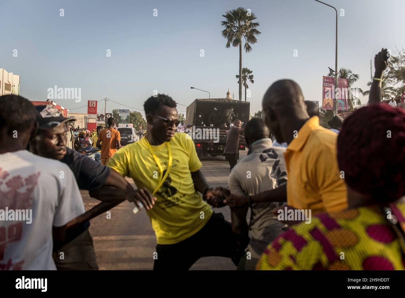
[[[9,177],[9,173],[0,168],[0,210],[4,216],[9,217],[9,213],[5,214],[4,210],[28,210],[32,208],[32,194],[36,185],[40,172],[34,173],[23,179],[20,175]],[[4,191],[3,191],[3,190]],[[0,219],[5,219],[0,215]],[[13,259],[4,260],[4,252],[7,249],[7,244],[21,240],[23,223],[12,219],[15,222],[8,226],[0,226],[0,270],[21,270],[24,260],[17,263]]]

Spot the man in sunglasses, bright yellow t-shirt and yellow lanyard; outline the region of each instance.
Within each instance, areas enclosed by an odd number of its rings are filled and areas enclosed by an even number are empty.
[[[147,208],[158,243],[154,270],[187,270],[200,257],[213,255],[237,262],[244,247],[223,215],[203,201],[224,197],[226,191],[208,186],[194,141],[189,134],[175,133],[179,124],[175,101],[158,94],[144,108],[145,137],[118,150],[107,166],[157,198],[153,208]]]

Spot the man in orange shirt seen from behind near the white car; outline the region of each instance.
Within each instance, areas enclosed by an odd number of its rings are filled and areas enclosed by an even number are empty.
[[[114,121],[114,118],[108,118],[108,128],[103,129],[98,134],[97,147],[100,148],[101,146],[102,165],[106,165],[109,159],[117,152],[117,149],[121,148],[121,135],[119,131],[113,128]],[[102,142],[102,145],[100,145],[100,142]]]

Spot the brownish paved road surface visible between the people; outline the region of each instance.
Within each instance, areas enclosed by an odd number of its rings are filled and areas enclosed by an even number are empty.
[[[247,150],[240,152],[245,157]],[[205,157],[201,168],[211,187],[227,187],[229,163],[224,157]],[[133,184],[132,179],[127,178]],[[133,184],[135,187],[135,185]],[[99,201],[82,191],[83,202],[88,210]],[[111,209],[111,219],[101,214],[92,219],[90,233],[93,236],[97,262],[100,270],[151,270],[156,237],[144,210],[132,213],[133,204],[126,201]],[[230,221],[228,207],[215,208]],[[204,257],[191,270],[234,270],[236,267],[228,258]]]

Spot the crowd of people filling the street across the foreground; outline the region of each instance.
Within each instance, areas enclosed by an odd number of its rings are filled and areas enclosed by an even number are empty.
[[[193,140],[176,133],[168,95],[145,101],[147,131],[130,146],[121,147],[111,118],[96,141],[77,131],[101,146],[102,164],[66,146],[60,111],[1,96],[0,209],[32,210],[32,223],[0,221],[0,268],[97,269],[90,219],[128,200],[151,220],[155,270],[187,270],[206,256],[239,270],[403,270],[405,112],[381,103],[387,66],[383,49],[369,105],[343,124],[331,120],[336,131],[319,125],[296,82],[271,84],[264,121],[233,120],[227,154],[240,133],[249,151],[239,163],[227,157],[228,188],[207,184]],[[86,212],[79,189],[100,203]],[[211,206],[230,208],[231,223]]]

